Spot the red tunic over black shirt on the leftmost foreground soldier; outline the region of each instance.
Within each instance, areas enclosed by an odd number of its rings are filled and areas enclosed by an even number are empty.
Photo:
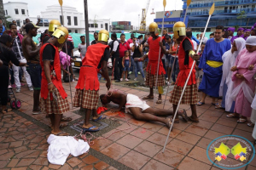
[[[43,47],[40,49],[40,65],[42,67],[42,81],[41,81],[41,97],[43,99],[47,99],[48,94],[49,94],[49,89],[48,89],[48,82],[45,77],[45,72],[44,72],[44,62],[43,62],[43,51],[46,45],[50,43],[45,43]],[[55,48],[55,59],[54,59],[54,65],[50,65],[49,69],[50,72],[55,71],[55,77],[51,77],[51,81],[55,85],[55,88],[58,89],[59,93],[61,94],[62,99],[67,98],[67,94],[62,86],[61,82],[61,61],[60,61],[60,56],[59,56],[59,49],[55,47],[54,45],[50,44]]]

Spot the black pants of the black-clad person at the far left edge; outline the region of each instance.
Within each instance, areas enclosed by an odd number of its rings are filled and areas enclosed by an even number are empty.
[[[8,66],[0,66],[0,99],[2,105],[7,105],[8,86],[9,86],[9,70]]]

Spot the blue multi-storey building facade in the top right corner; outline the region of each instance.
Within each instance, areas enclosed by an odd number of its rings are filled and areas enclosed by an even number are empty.
[[[194,30],[203,31],[212,3],[213,1],[193,0],[187,12],[189,16],[188,26],[195,28]],[[251,28],[256,22],[256,0],[215,0],[214,3],[215,10],[208,25],[212,30],[215,26],[242,26]],[[184,16],[186,8],[187,1],[183,0],[181,18]],[[241,14],[241,19],[237,18],[239,14]]]

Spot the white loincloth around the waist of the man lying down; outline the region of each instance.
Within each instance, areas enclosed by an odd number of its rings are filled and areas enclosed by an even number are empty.
[[[145,111],[150,106],[147,105],[147,103],[145,101],[143,101],[142,99],[139,99],[136,95],[127,94],[126,104],[125,104],[125,112],[126,113],[128,113],[128,112],[131,113],[131,111],[129,110],[130,107],[139,107],[143,111]]]

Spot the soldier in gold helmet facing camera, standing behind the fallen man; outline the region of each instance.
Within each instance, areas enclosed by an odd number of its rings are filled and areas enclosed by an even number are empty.
[[[163,86],[165,85],[165,75],[166,75],[166,71],[164,69],[161,58],[163,54],[166,54],[166,42],[165,40],[160,42],[161,37],[159,37],[158,25],[155,22],[152,22],[149,25],[149,32],[151,34],[151,37],[148,37],[149,51],[148,51],[148,55],[146,54],[143,56],[143,59],[145,59],[148,56],[148,66],[147,66],[147,75],[146,75],[145,84],[146,86],[149,86],[150,93],[148,96],[144,97],[143,99],[154,99],[153,88],[155,86],[155,81],[157,77],[157,67],[159,65],[158,78],[157,78],[157,84],[156,84],[159,91],[159,97],[156,103],[161,104],[162,103],[161,94],[164,93]],[[162,39],[164,39],[164,37]],[[161,54],[159,59],[160,50],[161,50]]]

